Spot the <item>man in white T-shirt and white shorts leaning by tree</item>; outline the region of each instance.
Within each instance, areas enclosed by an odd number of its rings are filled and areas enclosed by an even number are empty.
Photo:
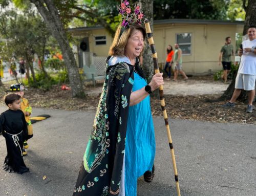
[[[239,50],[241,57],[238,75],[234,92],[229,102],[222,107],[234,107],[242,90],[248,91],[248,105],[246,112],[252,113],[252,101],[255,96],[255,80],[256,80],[256,26],[250,26],[247,31],[249,39],[242,42],[243,50]]]

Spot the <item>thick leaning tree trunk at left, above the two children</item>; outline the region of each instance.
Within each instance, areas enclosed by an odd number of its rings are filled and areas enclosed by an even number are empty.
[[[44,18],[53,37],[57,40],[65,64],[67,66],[69,81],[73,97],[83,97],[83,85],[76,65],[75,57],[70,48],[69,41],[63,24],[59,18],[58,10],[51,0],[30,0],[35,4],[36,8]],[[46,6],[45,6],[46,5]]]

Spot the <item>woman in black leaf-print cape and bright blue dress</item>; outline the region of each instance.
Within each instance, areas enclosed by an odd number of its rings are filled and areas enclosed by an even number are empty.
[[[148,95],[163,77],[156,74],[147,84],[139,67],[145,35],[137,24],[116,31],[73,196],[134,196],[143,173],[145,181],[153,179],[155,135]]]

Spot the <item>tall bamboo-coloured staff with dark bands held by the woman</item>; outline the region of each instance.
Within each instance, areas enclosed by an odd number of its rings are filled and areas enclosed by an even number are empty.
[[[156,48],[155,48],[155,43],[154,43],[154,40],[153,40],[153,35],[152,35],[152,32],[151,32],[150,23],[147,19],[145,19],[145,27],[146,27],[147,39],[148,39],[148,42],[150,42],[150,47],[151,47],[151,51],[152,51],[152,56],[153,56],[153,61],[154,61],[154,70],[155,70],[155,73],[160,73],[159,67],[158,67],[158,60],[157,60],[157,52],[156,52]],[[173,141],[172,141],[172,136],[170,135],[170,127],[169,127],[169,123],[168,123],[168,116],[167,116],[167,113],[166,113],[166,110],[165,110],[165,102],[164,102],[164,97],[163,97],[163,85],[161,85],[159,87],[159,94],[160,94],[160,103],[161,103],[161,107],[162,107],[162,111],[163,111],[164,122],[165,122],[165,126],[166,126],[166,131],[167,131],[167,137],[168,137],[168,141],[169,141],[170,154],[172,155],[172,160],[173,160],[177,194],[178,194],[178,196],[180,196],[180,186],[179,186],[178,172],[177,172],[175,155],[174,155]]]

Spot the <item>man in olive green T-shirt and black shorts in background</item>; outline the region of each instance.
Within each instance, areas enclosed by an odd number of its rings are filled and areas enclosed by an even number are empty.
[[[231,45],[231,38],[226,37],[225,40],[226,40],[226,43],[221,48],[221,52],[219,55],[219,66],[222,63],[222,67],[223,67],[222,79],[224,80],[224,83],[227,83],[227,75],[231,69],[231,55],[234,55],[234,50],[233,50],[233,46]]]

